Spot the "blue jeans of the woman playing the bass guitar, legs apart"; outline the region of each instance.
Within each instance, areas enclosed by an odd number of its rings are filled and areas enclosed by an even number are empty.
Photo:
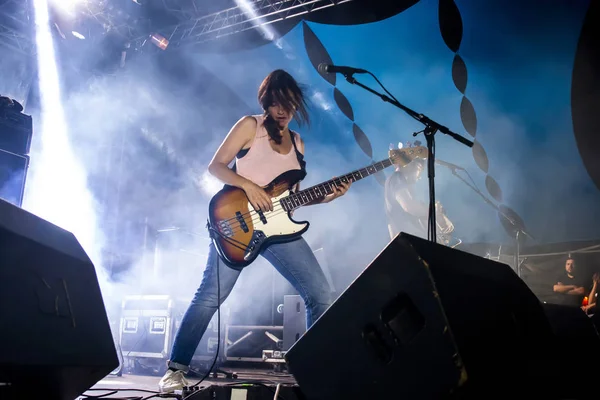
[[[329,285],[312,250],[303,238],[277,243],[264,249],[266,258],[286,278],[304,299],[307,329],[331,304]],[[213,244],[202,283],[188,307],[173,342],[169,368],[186,371],[204,335],[210,320],[217,311],[217,268],[219,269],[220,295],[223,304],[231,293],[240,271],[229,268]],[[252,268],[252,265],[247,268]]]

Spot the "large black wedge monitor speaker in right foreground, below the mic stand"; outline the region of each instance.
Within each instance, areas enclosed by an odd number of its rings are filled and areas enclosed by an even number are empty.
[[[310,400],[540,395],[552,340],[508,265],[401,233],[285,358]]]

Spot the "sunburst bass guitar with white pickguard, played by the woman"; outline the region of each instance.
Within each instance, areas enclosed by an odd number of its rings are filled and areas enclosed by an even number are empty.
[[[231,268],[243,269],[269,244],[294,240],[308,230],[308,221],[292,219],[297,208],[333,193],[341,182],[356,182],[392,165],[404,166],[414,158],[427,158],[427,148],[394,149],[388,155],[385,160],[298,192],[292,192],[292,188],[299,181],[300,171],[287,171],[263,188],[271,197],[273,211],[254,210],[242,189],[225,185],[212,197],[208,210],[207,227],[219,255]]]

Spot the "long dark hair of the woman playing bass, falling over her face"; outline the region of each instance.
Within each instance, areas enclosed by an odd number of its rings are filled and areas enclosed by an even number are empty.
[[[258,102],[264,110],[265,129],[277,144],[281,144],[281,133],[277,121],[268,112],[272,104],[277,103],[286,111],[293,113],[294,119],[300,125],[310,123],[304,91],[298,82],[282,69],[271,72],[262,81],[258,88]]]

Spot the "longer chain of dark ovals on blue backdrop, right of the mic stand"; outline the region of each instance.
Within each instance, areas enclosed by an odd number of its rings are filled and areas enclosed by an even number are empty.
[[[467,66],[462,57],[458,54],[462,42],[463,23],[460,10],[454,0],[439,0],[438,19],[442,39],[444,40],[444,43],[446,43],[446,46],[454,52],[454,59],[452,61],[452,80],[454,81],[456,89],[463,95],[460,103],[460,119],[467,133],[474,138],[472,147],[473,158],[477,166],[486,174],[485,186],[488,193],[498,203],[502,203],[502,189],[498,182],[489,175],[489,160],[486,151],[476,138],[477,114],[475,113],[475,108],[465,95],[468,82]],[[525,228],[523,219],[514,210],[504,204],[499,204],[499,208],[513,221],[517,221],[518,224],[520,224],[521,229]],[[512,224],[510,224],[510,222],[500,213],[498,216],[506,233],[509,236],[514,237],[516,232],[512,228]]]

